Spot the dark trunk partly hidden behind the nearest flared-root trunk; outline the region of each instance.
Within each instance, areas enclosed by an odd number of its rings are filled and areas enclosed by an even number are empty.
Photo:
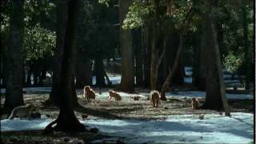
[[[56,105],[58,103],[58,91],[62,90],[60,87],[60,77],[62,70],[62,59],[63,59],[63,48],[66,38],[66,23],[67,23],[67,0],[57,1],[57,39],[56,39],[56,50],[54,51],[54,70],[53,70],[53,83],[50,91],[50,97],[46,100],[46,105]],[[75,67],[75,66],[74,66]],[[74,81],[74,76],[72,77]],[[70,84],[74,88],[74,82]],[[72,102],[74,105],[78,105],[76,101],[77,95],[75,89],[73,89]]]

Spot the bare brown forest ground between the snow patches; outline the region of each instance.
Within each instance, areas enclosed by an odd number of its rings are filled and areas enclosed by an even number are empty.
[[[82,98],[82,90],[77,90],[78,102],[81,107],[76,108],[75,114],[80,121],[90,122],[97,118],[106,118],[117,120],[138,120],[142,122],[148,121],[166,121],[170,116],[175,115],[195,115],[197,118],[200,115],[216,114],[222,115],[221,112],[214,110],[191,110],[190,97],[168,96],[166,102],[161,102],[158,108],[150,105],[147,100],[149,90],[136,89],[137,93],[127,94],[118,92],[122,96],[121,102],[107,101],[109,89],[94,89],[96,91],[96,100],[86,102]],[[173,92],[172,94],[177,94]],[[140,96],[139,101],[134,101],[133,96]],[[58,116],[58,107],[44,106],[43,102],[49,97],[49,92],[38,90],[26,90],[24,94],[25,103],[33,103],[40,110],[42,118],[54,119]],[[204,98],[198,97],[200,102]],[[254,102],[252,99],[229,99],[229,104],[232,112],[254,113]],[[1,104],[4,102],[4,97],[1,97]],[[2,105],[3,106],[3,105]],[[1,107],[1,119],[7,118],[4,110]],[[117,143],[117,139],[107,136],[106,134],[63,134],[55,133],[53,135],[44,135],[42,130],[22,130],[22,131],[1,131],[1,140],[4,143],[97,143],[95,140],[105,139],[106,143]],[[53,140],[54,139],[54,140]],[[114,139],[114,140],[113,140]],[[101,143],[102,141],[99,141]],[[121,142],[121,141],[120,141]]]

